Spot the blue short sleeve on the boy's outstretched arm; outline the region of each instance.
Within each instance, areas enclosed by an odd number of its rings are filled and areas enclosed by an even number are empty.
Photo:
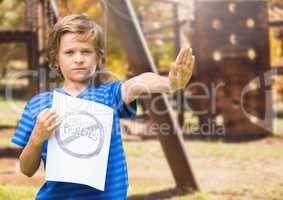
[[[122,82],[114,82],[114,95],[119,117],[134,119],[137,111],[137,100],[134,100],[129,104],[124,103],[122,97]]]

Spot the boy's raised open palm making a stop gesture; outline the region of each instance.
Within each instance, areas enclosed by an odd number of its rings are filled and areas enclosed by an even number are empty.
[[[176,60],[171,64],[168,74],[171,91],[176,91],[186,87],[192,77],[195,56],[192,55],[192,49],[182,48]]]

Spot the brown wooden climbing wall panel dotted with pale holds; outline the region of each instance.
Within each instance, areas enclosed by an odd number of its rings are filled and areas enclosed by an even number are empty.
[[[193,94],[201,98],[190,99],[190,103],[202,131],[209,131],[210,136],[217,136],[217,129],[228,136],[270,134],[256,125],[271,106],[265,105],[263,79],[270,69],[267,12],[263,0],[195,1],[192,41],[197,57],[195,76],[201,84],[196,84]],[[257,77],[260,88],[250,83]],[[241,92],[247,85],[250,92],[242,107]],[[243,109],[254,117],[248,118]],[[271,124],[272,119],[268,120]]]

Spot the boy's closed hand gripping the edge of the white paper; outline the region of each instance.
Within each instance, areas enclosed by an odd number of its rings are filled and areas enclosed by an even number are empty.
[[[31,138],[35,145],[42,145],[60,125],[59,116],[54,110],[45,109],[39,113]]]

